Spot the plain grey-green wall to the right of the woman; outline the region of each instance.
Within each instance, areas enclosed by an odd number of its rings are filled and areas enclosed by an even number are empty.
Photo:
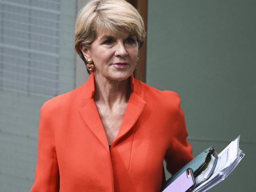
[[[193,155],[208,146],[220,152],[241,135],[244,159],[210,192],[256,186],[255,7],[253,0],[148,0],[146,82],[180,95]]]

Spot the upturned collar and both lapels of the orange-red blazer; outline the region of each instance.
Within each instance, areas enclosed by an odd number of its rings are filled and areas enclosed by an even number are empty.
[[[115,145],[117,140],[122,138],[132,129],[146,105],[146,102],[140,97],[141,84],[137,79],[134,78],[133,74],[130,76],[130,85],[131,95],[126,107],[121,127],[119,129],[119,133],[112,143],[112,147]],[[93,100],[94,92],[94,72],[92,72],[88,78],[88,81],[82,85],[82,109],[80,110],[80,114],[95,137],[103,144],[106,150],[109,151],[106,133]]]

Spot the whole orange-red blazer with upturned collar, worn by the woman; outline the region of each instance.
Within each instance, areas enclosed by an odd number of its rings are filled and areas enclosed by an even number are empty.
[[[180,98],[130,77],[131,95],[109,151],[94,73],[41,108],[31,192],[159,192],[163,160],[174,174],[193,159]]]

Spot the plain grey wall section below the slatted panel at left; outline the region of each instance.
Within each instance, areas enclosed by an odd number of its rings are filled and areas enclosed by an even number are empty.
[[[37,160],[40,108],[50,97],[0,90],[1,191],[28,192]]]

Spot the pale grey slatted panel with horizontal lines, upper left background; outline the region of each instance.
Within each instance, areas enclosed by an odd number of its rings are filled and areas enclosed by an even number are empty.
[[[0,88],[59,94],[59,0],[0,0]]]

